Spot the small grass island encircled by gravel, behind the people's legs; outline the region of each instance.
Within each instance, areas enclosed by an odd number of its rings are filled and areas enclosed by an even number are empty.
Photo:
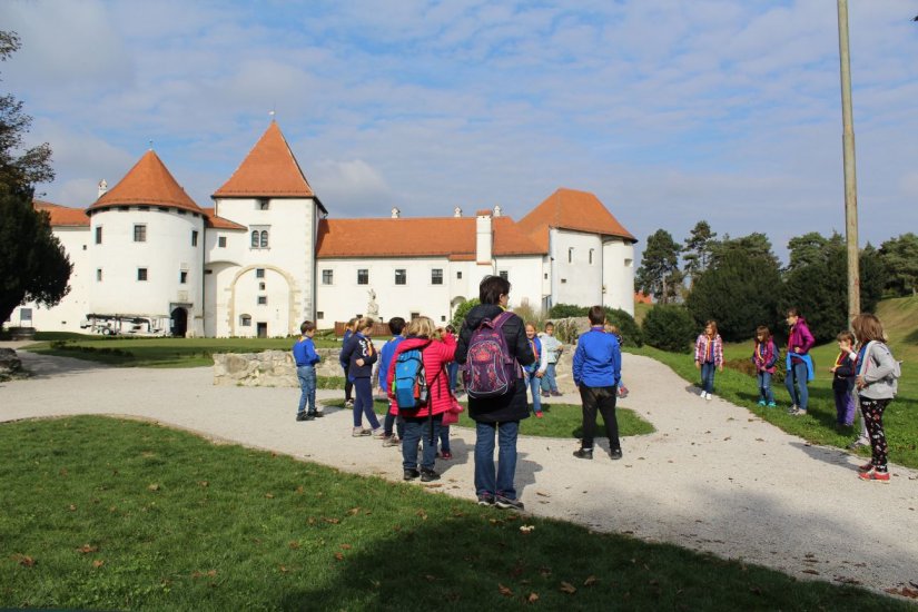
[[[344,399],[325,401],[323,404],[340,408],[344,407]],[[466,403],[462,402],[462,405],[465,406]],[[376,399],[373,407],[376,414],[382,416],[386,413],[388,403]],[[520,422],[521,435],[561,438],[580,438],[583,435],[583,416],[580,404],[543,403],[542,407],[545,412],[544,418],[531,416]],[[651,434],[655,431],[653,425],[628,408],[619,407],[615,415],[619,422],[619,435],[622,437]],[[457,426],[475,428],[475,422],[470,418],[467,409],[460,415]],[[598,419],[595,437],[605,437],[602,417]]]

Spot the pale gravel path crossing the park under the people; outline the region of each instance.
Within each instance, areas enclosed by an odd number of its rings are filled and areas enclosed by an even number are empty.
[[[325,418],[296,423],[298,389],[217,387],[209,367],[109,368],[19,354],[36,375],[0,383],[0,421],[131,415],[348,472],[402,477],[397,448],[351,437],[349,411],[327,408]],[[527,511],[801,579],[875,590],[918,583],[918,472],[890,465],[890,484],[861,482],[860,457],[811,446],[724,401],[705,402],[650,358],[625,355],[624,369],[631,395],[623,405],[657,432],[623,438],[619,462],[599,452],[592,462],[576,460],[573,440],[522,436],[517,488]],[[319,392],[320,399],[339,395]],[[454,460],[437,462],[436,491],[474,499],[473,443],[474,432],[453,427]]]

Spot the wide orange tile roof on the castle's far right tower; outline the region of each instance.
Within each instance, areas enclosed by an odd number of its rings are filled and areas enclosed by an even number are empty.
[[[638,241],[596,196],[589,191],[574,189],[559,189],[536,206],[532,213],[520,219],[519,225],[520,229],[545,250],[549,248],[549,228],[551,227],[618,236]]]

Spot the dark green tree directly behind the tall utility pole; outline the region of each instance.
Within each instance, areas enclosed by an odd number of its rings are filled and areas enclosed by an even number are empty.
[[[830,238],[820,236],[822,246],[819,251],[812,245],[820,240],[791,240],[797,248],[805,249],[805,257],[798,261],[808,261],[788,269],[784,275],[782,309],[797,307],[806,317],[807,324],[817,342],[829,342],[836,334],[847,329],[848,320],[848,249],[840,234]],[[801,237],[805,238],[805,237]],[[794,258],[791,251],[791,259]],[[868,245],[859,256],[860,264],[860,309],[872,312],[882,296],[885,285],[884,265],[878,251]]]

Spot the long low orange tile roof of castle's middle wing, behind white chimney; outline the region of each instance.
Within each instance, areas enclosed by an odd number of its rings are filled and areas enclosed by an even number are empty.
[[[495,256],[544,255],[510,217],[492,225]],[[318,227],[318,258],[338,257],[450,257],[474,260],[475,218],[388,217],[375,219],[322,219]]]

